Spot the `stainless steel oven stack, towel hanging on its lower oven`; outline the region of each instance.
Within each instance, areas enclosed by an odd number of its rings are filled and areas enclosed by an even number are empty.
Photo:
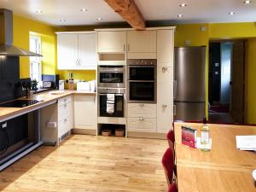
[[[125,66],[98,66],[98,116],[125,117]],[[113,110],[108,111],[108,96],[114,96]]]

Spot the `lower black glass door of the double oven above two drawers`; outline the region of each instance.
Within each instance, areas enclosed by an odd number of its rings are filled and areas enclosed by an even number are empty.
[[[129,100],[154,102],[154,82],[130,82]]]

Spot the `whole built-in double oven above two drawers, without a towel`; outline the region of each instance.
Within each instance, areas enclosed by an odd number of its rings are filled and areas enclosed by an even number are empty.
[[[156,59],[128,60],[128,102],[156,102]]]

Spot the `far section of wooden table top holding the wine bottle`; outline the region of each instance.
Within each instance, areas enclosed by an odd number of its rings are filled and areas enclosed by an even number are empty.
[[[208,125],[212,138],[212,150],[202,152],[198,148],[189,148],[181,143],[182,125],[189,125],[197,129],[197,137],[200,137],[201,124],[175,123],[177,162],[256,169],[256,154],[236,149],[236,136],[256,135],[256,126]]]

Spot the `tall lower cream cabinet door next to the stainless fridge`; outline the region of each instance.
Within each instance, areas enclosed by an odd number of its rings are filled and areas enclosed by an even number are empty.
[[[157,67],[157,132],[165,133],[173,120],[173,68]]]

